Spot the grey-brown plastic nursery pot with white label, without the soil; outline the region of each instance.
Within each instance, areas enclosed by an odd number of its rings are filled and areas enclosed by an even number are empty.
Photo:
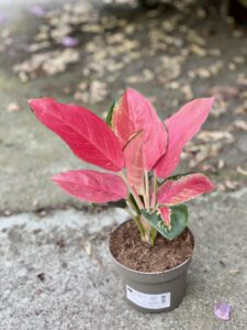
[[[126,301],[142,312],[161,312],[175,309],[186,294],[187,272],[191,257],[171,270],[157,273],[144,273],[126,267],[112,254],[111,238],[127,221],[117,226],[109,238],[110,254],[123,282]],[[191,231],[190,234],[193,240]]]

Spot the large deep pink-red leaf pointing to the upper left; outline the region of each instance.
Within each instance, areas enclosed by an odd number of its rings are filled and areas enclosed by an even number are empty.
[[[109,127],[89,110],[50,98],[29,101],[37,119],[57,133],[81,160],[110,170],[124,165],[120,143]]]

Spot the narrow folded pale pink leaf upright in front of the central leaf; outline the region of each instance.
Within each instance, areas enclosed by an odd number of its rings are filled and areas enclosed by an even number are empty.
[[[127,179],[137,193],[142,193],[144,184],[144,132],[141,131],[132,138],[124,147],[124,160],[127,170]]]

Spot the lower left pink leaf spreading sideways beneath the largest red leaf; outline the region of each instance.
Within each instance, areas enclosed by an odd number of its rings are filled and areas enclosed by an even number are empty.
[[[91,169],[60,173],[53,180],[66,193],[91,202],[115,201],[128,194],[121,177]]]

